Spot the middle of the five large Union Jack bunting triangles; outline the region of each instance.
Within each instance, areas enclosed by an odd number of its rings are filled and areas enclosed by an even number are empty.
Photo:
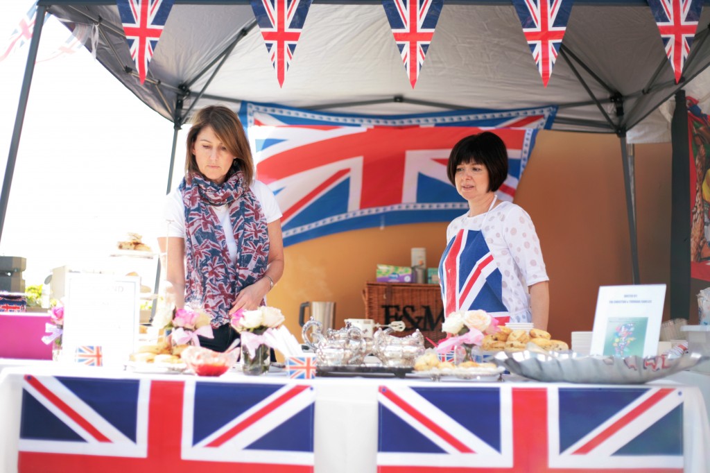
[[[412,88],[434,37],[444,0],[382,0]]]

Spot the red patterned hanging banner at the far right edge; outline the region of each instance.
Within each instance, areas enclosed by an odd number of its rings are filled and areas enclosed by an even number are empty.
[[[710,120],[692,97],[688,107],[690,150],[690,275],[710,281]]]

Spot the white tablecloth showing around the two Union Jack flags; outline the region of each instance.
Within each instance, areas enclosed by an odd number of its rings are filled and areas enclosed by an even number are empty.
[[[84,366],[59,366],[51,361],[32,362],[25,366],[9,366],[0,360],[0,418],[4,428],[0,431],[0,471],[17,471],[18,433],[20,406],[23,393],[23,376],[78,376],[97,379],[147,379],[193,383],[195,376],[174,374],[134,374],[125,371],[110,371]],[[22,365],[22,363],[19,363]],[[3,368],[3,366],[5,366]],[[204,382],[239,382],[284,384],[283,374],[250,377],[227,373],[216,379],[199,378]],[[298,381],[293,381],[298,382]],[[501,388],[506,392],[515,388],[575,388],[572,384],[542,384],[535,382],[505,382],[472,384],[461,382],[433,383],[418,379],[365,379],[365,378],[317,378],[300,381],[315,386],[315,439],[314,456],[316,473],[375,473],[378,459],[378,388],[380,386],[460,388],[481,386]],[[645,385],[648,386],[648,385]],[[674,387],[673,382],[656,381],[652,386]],[[588,386],[584,386],[585,388]],[[594,386],[591,386],[594,387]],[[603,388],[603,386],[599,386]],[[609,388],[610,386],[606,386]],[[638,386],[615,386],[634,388]],[[684,395],[683,437],[685,472],[707,473],[710,471],[710,424],[706,414],[701,389],[682,386]],[[501,391],[502,392],[502,391]],[[131,473],[137,473],[138,470]]]

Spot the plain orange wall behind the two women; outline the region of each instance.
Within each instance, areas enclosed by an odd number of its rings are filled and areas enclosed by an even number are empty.
[[[635,154],[640,282],[667,284],[670,143],[636,145]],[[550,276],[550,332],[569,342],[570,332],[591,330],[599,286],[631,283],[619,139],[541,131],[515,203],[532,217],[542,244]],[[372,228],[289,246],[284,276],[268,303],[283,310],[289,330],[299,339],[297,316],[303,301],[334,300],[336,325],[342,327],[345,318],[364,317],[361,293],[366,281],[374,281],[376,264],[408,266],[410,249],[422,246],[427,265],[437,266],[446,227]]]

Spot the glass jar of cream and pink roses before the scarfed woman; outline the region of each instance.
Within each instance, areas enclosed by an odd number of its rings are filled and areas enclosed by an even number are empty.
[[[280,310],[261,306],[256,310],[237,310],[231,326],[241,335],[241,359],[244,374],[258,376],[271,366],[270,347],[275,345],[273,330],[283,324]]]

